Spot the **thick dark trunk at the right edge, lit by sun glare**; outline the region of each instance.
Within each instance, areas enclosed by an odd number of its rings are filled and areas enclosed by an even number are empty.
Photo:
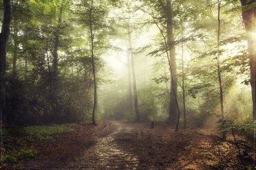
[[[250,86],[253,98],[253,119],[256,121],[256,0],[240,0],[242,5],[242,18],[248,39],[248,53],[250,59]]]

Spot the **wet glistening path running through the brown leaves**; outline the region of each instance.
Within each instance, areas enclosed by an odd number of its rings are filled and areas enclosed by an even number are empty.
[[[116,134],[130,132],[131,127],[117,123],[116,126],[114,133],[99,138],[96,145],[72,163],[70,169],[136,169],[139,161],[137,156],[129,151],[129,146],[118,146],[114,142]]]

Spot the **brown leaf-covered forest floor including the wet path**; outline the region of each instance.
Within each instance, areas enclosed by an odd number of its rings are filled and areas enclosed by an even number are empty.
[[[76,126],[73,132],[31,143],[39,154],[19,160],[19,166],[6,164],[6,168],[255,169],[253,145],[236,136],[242,163],[231,137],[222,141],[204,130],[174,132],[163,123],[152,129],[149,122],[101,121],[97,126]]]

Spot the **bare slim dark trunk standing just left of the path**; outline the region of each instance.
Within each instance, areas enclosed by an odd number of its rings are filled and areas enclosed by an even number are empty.
[[[90,29],[90,36],[91,36],[91,55],[92,55],[92,73],[94,74],[94,109],[92,110],[92,123],[96,125],[95,122],[95,110],[97,104],[97,84],[96,84],[96,73],[95,73],[95,64],[94,64],[94,34],[92,33],[92,10],[94,7],[94,1],[92,0],[91,9],[89,12],[89,29]]]

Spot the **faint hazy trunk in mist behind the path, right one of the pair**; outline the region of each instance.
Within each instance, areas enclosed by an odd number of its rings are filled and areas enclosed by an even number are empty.
[[[140,113],[138,110],[138,95],[137,95],[137,84],[136,84],[136,74],[135,74],[135,66],[134,66],[134,51],[132,49],[131,45],[131,29],[129,25],[129,49],[130,49],[130,54],[131,54],[131,71],[132,71],[132,77],[133,77],[133,82],[134,82],[134,109],[136,112],[136,121],[140,121]]]

